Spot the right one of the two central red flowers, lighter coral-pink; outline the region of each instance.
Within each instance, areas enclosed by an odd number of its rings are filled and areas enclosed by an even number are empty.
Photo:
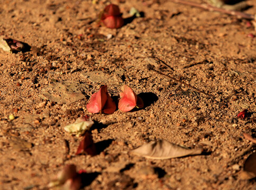
[[[118,102],[118,108],[121,111],[130,111],[136,108],[143,108],[144,103],[143,100],[136,95],[136,93],[128,87],[127,85],[123,85],[121,87],[121,92],[119,93],[120,99]]]

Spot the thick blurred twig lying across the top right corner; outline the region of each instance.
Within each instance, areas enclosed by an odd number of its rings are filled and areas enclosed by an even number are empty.
[[[240,12],[240,11],[231,11],[231,10],[227,10],[227,9],[224,9],[224,8],[218,8],[218,7],[215,7],[215,6],[211,6],[211,5],[208,5],[208,4],[199,4],[199,3],[184,1],[184,0],[173,0],[173,2],[181,3],[181,4],[184,4],[184,5],[190,5],[190,6],[194,6],[194,7],[199,7],[199,8],[207,9],[209,11],[217,11],[217,12],[221,12],[221,13],[226,13],[226,14],[229,14],[229,15],[234,15],[237,18],[245,18],[245,19],[248,19],[248,20],[254,20],[254,15],[243,13],[243,12]]]

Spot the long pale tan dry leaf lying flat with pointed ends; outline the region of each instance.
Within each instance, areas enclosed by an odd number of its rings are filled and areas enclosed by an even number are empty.
[[[201,148],[189,149],[169,143],[166,140],[153,141],[131,151],[132,153],[151,159],[169,159],[188,155],[199,155]]]

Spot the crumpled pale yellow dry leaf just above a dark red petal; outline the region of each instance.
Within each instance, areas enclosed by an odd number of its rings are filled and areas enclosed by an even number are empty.
[[[94,121],[87,121],[86,118],[77,118],[74,124],[70,124],[64,127],[64,130],[72,135],[83,135],[86,130],[90,130]]]

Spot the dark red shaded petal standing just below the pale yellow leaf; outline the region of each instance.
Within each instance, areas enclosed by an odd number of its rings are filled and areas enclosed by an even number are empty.
[[[84,138],[82,139],[80,145],[77,148],[76,155],[79,154],[88,154],[88,155],[96,155],[96,147],[93,143],[92,135],[90,132],[86,132]]]

